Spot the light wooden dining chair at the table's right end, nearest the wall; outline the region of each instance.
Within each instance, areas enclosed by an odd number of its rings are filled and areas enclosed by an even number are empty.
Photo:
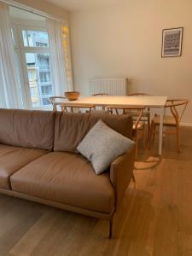
[[[187,108],[189,101],[186,99],[170,99],[166,101],[165,108],[169,108],[172,115],[165,115],[163,119],[163,125],[175,128],[175,132],[164,131],[167,134],[177,135],[177,152],[180,152],[180,133],[179,124],[183,117],[183,113]],[[154,141],[154,134],[156,127],[160,125],[160,116],[155,114],[154,119],[151,122],[151,141]]]

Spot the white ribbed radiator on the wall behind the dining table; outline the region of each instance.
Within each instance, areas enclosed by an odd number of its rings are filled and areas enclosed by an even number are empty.
[[[113,96],[128,94],[127,78],[90,79],[90,95],[107,93]]]

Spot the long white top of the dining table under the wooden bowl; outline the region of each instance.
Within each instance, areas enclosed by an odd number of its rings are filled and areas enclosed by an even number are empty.
[[[79,97],[76,101],[61,102],[61,105],[162,108],[166,105],[166,100],[167,96],[87,96]]]

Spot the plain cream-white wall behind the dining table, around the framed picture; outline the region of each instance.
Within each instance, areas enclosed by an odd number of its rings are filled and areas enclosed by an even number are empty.
[[[70,14],[76,90],[94,77],[127,76],[130,92],[187,97],[192,125],[192,1],[125,0]],[[162,29],[183,26],[182,57],[161,58]]]

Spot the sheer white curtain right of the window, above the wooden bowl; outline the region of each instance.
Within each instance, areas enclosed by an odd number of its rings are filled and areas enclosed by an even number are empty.
[[[50,67],[55,96],[63,96],[67,90],[73,90],[68,84],[66,58],[63,47],[63,23],[57,20],[46,20],[49,33]]]

